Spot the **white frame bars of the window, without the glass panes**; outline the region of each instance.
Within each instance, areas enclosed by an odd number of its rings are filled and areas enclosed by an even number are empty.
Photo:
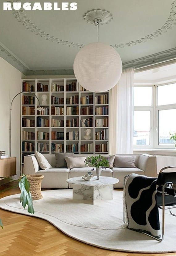
[[[162,84],[134,84],[134,87],[152,87],[152,106],[134,106],[134,111],[150,111],[150,145],[133,145],[133,149],[175,149],[174,145],[159,145],[159,111],[176,109],[175,104],[160,105],[157,106],[157,93],[159,86],[165,86],[175,84],[174,82],[162,83]]]

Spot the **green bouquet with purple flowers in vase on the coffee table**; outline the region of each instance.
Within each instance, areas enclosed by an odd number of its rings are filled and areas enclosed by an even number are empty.
[[[106,169],[106,167],[109,164],[108,157],[103,157],[101,155],[87,157],[85,160],[85,165],[87,164],[88,165],[91,164],[96,168],[97,180],[99,180],[99,176],[101,174],[101,168]]]

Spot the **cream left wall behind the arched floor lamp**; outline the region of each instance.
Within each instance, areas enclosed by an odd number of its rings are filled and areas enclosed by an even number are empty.
[[[9,154],[10,101],[20,92],[23,74],[0,57],[0,150]],[[12,105],[11,156],[17,157],[17,174],[20,174],[20,96]],[[1,182],[2,183],[2,182]]]

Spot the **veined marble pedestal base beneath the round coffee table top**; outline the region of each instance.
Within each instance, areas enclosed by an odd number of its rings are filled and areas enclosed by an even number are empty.
[[[110,199],[113,199],[113,185],[73,185],[73,200],[86,200],[86,203],[94,204],[97,200]]]

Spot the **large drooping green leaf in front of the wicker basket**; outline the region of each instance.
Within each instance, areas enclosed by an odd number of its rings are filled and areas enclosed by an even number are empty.
[[[28,182],[26,176],[23,176],[19,180],[19,188],[21,190],[20,203],[22,202],[22,206],[24,209],[27,205],[27,212],[34,214],[32,197],[31,197],[31,193],[29,191],[30,183]]]

